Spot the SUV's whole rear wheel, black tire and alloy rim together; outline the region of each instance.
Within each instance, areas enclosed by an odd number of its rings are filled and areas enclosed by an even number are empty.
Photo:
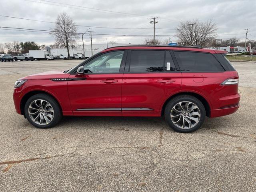
[[[179,103],[183,109],[180,108]],[[188,110],[186,110],[186,104],[188,104]],[[191,133],[198,130],[204,123],[205,116],[204,105],[191,95],[180,95],[172,98],[164,110],[164,117],[170,128],[181,133]]]

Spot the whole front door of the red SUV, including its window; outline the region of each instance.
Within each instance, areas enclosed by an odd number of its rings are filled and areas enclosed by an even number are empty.
[[[70,74],[68,94],[74,115],[121,116],[121,88],[126,51],[102,53]]]

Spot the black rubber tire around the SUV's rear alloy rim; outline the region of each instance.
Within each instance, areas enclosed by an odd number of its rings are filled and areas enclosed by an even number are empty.
[[[179,102],[192,102],[194,103],[200,110],[200,120],[198,121],[198,123],[192,127],[192,128],[188,128],[188,129],[182,129],[179,128],[178,126],[176,126],[172,120],[171,120],[171,110],[172,108]],[[200,100],[198,100],[197,98],[195,98],[194,96],[191,95],[180,95],[180,96],[176,96],[174,98],[172,98],[166,105],[165,109],[164,109],[164,117],[166,122],[168,123],[168,125],[170,126],[170,128],[172,128],[173,130],[180,132],[180,133],[191,133],[194,132],[196,130],[198,130],[202,124],[204,123],[204,119],[206,116],[206,112],[205,112],[205,108],[204,105],[202,104],[202,102],[200,102]]]

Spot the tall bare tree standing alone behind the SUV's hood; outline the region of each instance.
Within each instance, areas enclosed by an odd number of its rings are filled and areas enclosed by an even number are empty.
[[[74,25],[73,20],[67,13],[62,12],[58,15],[55,21],[55,27],[52,29],[52,34],[55,37],[56,45],[64,44],[64,47],[68,50],[68,58],[70,58],[69,46],[78,39],[77,27]]]

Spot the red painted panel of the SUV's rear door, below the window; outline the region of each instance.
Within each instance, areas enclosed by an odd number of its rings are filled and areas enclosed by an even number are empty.
[[[174,80],[161,83],[159,80]],[[152,111],[122,111],[123,116],[159,116],[161,104],[181,87],[182,74],[124,74],[122,108],[150,108]],[[158,112],[157,112],[158,111]]]

